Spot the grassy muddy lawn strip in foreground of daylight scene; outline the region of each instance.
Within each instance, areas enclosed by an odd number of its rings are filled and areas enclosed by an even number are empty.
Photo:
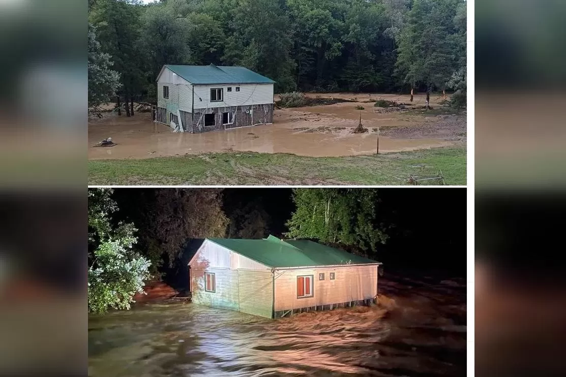
[[[447,185],[465,185],[466,149],[352,157],[230,152],[88,162],[90,185],[405,185],[411,174],[439,170]]]

